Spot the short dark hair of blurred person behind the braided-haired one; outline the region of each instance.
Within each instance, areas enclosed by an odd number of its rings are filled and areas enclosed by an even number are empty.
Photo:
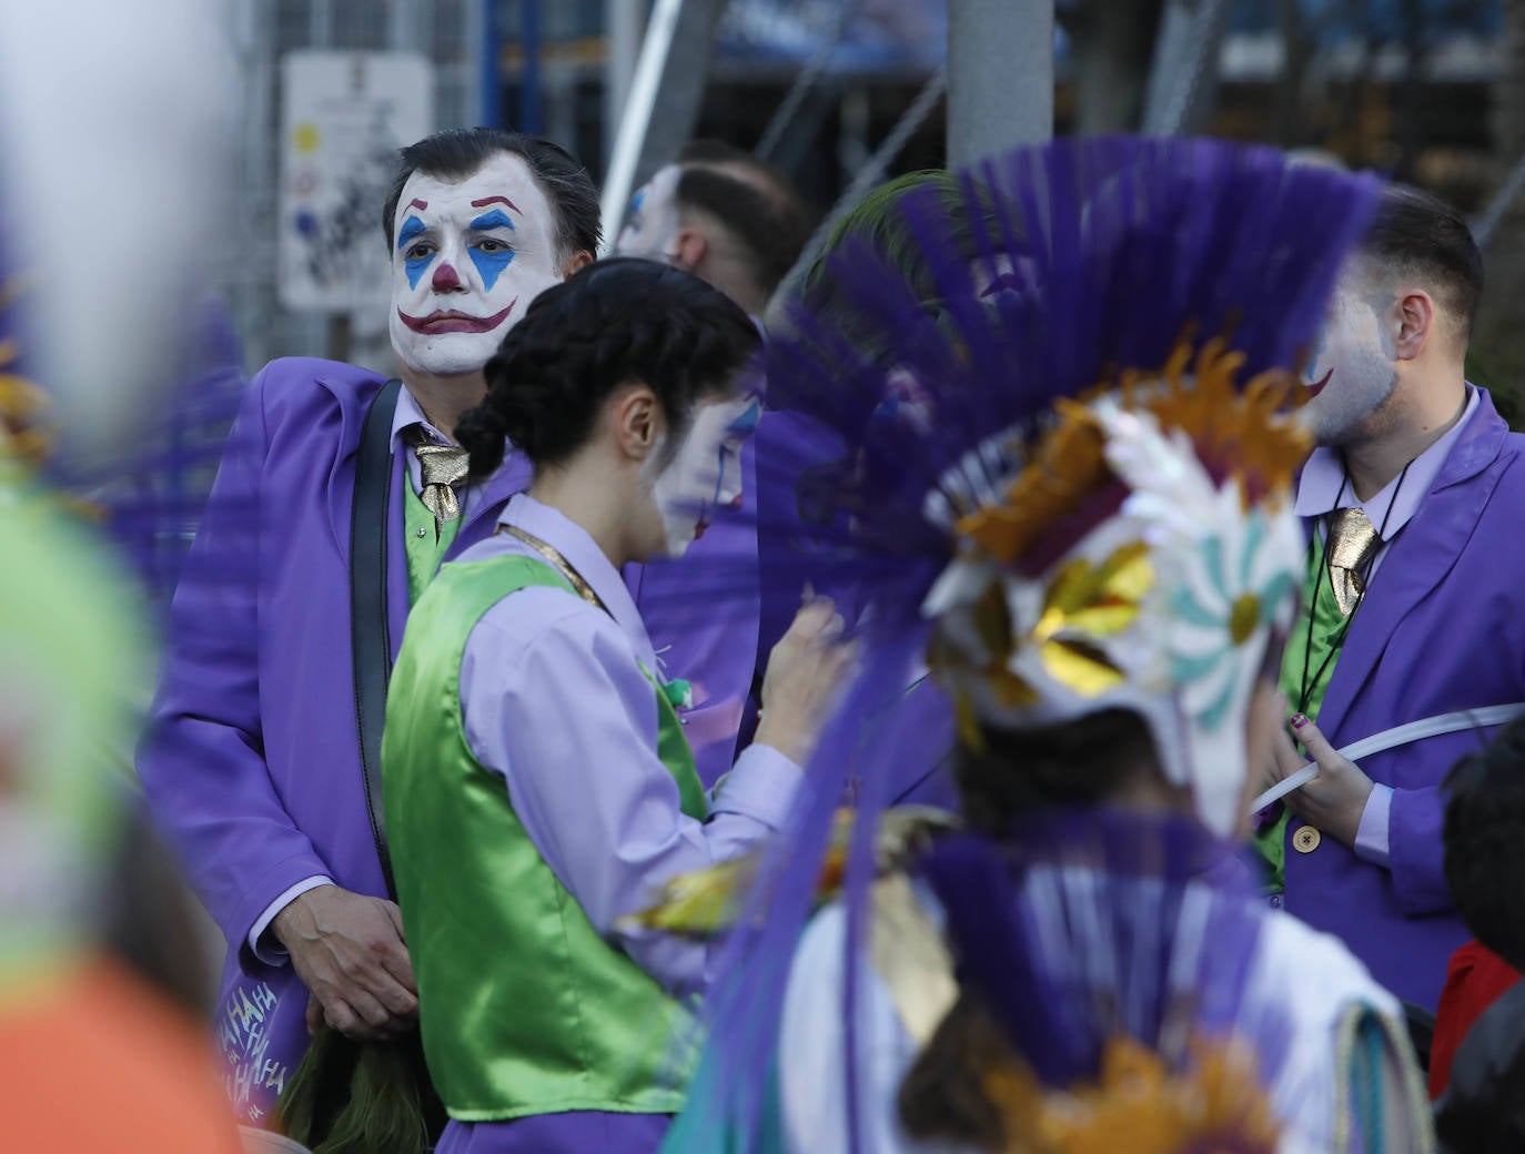
[[[695,140],[677,159],[679,209],[714,216],[741,245],[752,277],[772,296],[810,238],[811,213],[778,168],[720,140]]]

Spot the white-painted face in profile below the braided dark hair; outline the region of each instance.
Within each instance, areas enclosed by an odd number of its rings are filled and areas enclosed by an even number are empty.
[[[718,509],[741,500],[741,447],[761,415],[756,396],[717,398],[694,410],[677,453],[651,482],[666,556],[682,556],[705,535]]]

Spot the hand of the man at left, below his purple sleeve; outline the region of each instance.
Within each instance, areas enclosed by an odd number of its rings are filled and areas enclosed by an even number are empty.
[[[311,992],[310,1031],[322,1020],[351,1038],[386,1038],[415,1026],[418,986],[396,902],[319,886],[270,928]]]

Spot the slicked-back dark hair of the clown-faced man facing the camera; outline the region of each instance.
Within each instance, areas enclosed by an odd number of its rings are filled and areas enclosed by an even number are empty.
[[[508,128],[447,128],[398,151],[392,192],[381,209],[387,248],[396,226],[396,203],[415,172],[442,180],[465,180],[499,152],[522,157],[557,213],[557,259],[570,261],[580,252],[598,253],[601,235],[598,189],[587,169],[561,145]]]

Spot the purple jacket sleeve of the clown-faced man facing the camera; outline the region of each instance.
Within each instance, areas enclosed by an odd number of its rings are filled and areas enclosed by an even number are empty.
[[[259,695],[261,372],[229,434],[171,608],[137,770],[149,806],[230,942],[293,884],[329,874],[276,794]]]

